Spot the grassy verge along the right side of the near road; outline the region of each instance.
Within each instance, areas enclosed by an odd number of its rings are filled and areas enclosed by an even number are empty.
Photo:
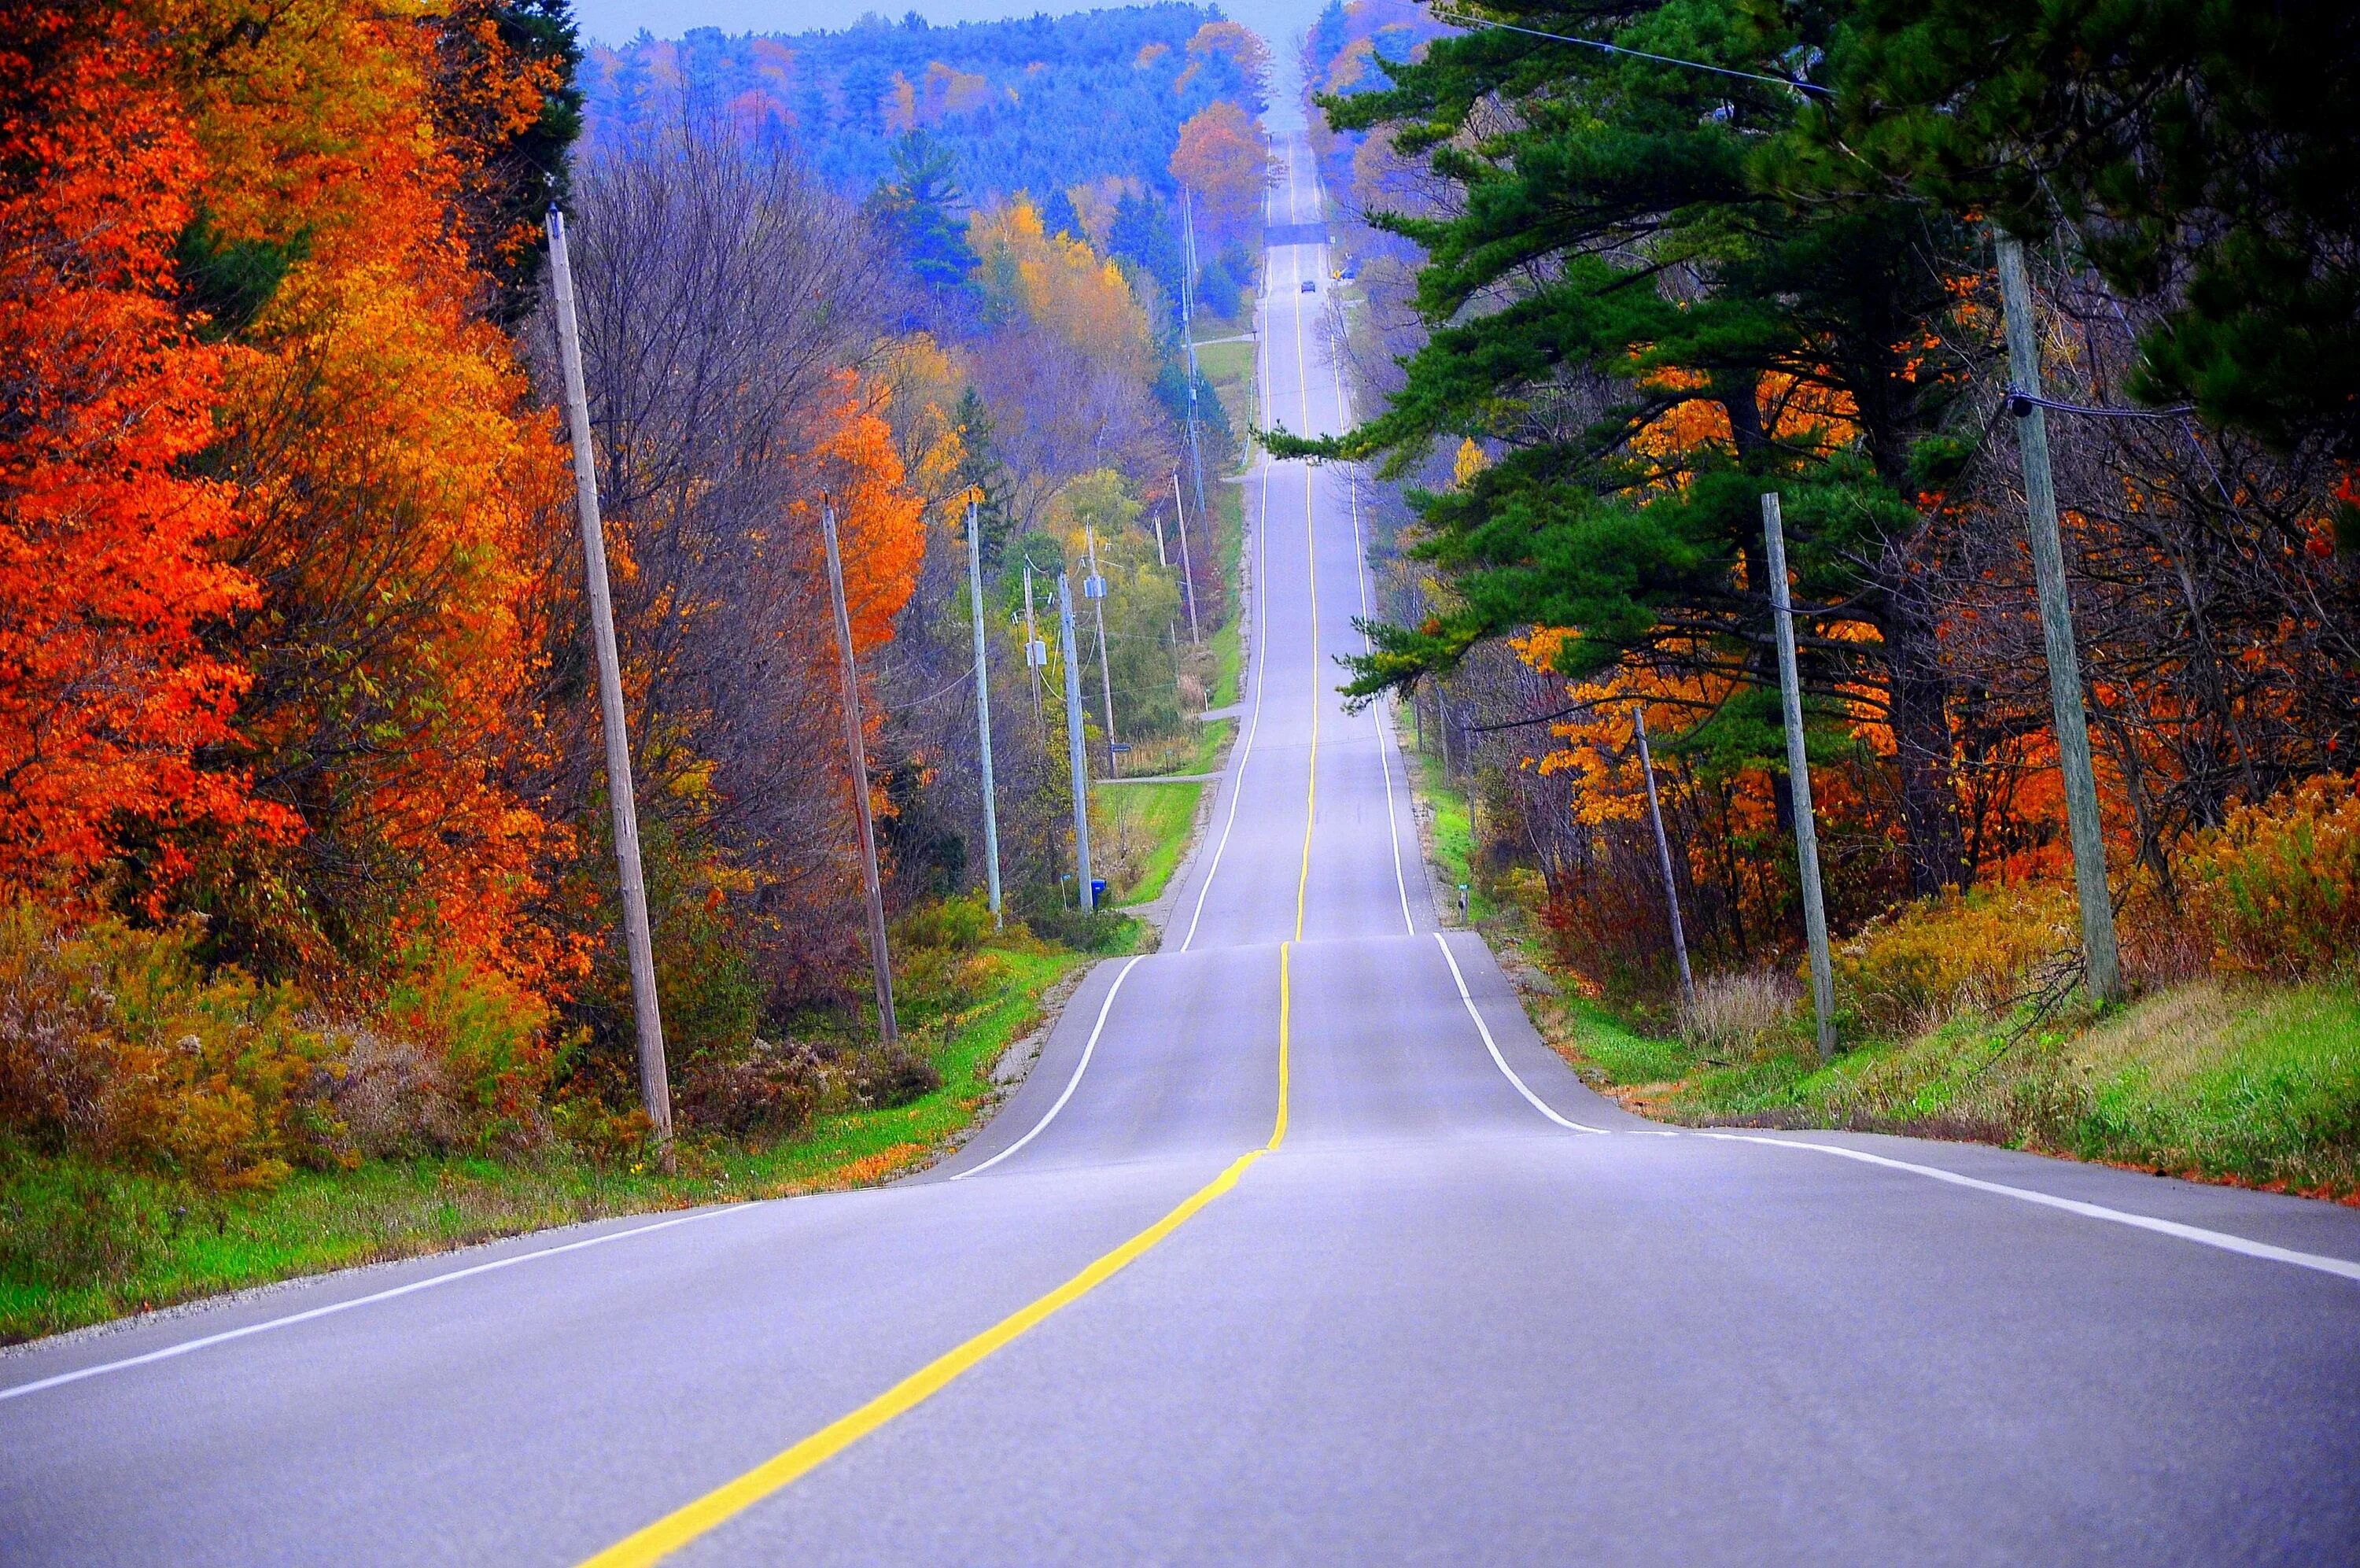
[[[1798,1018],[1716,1060],[1579,997],[1534,1011],[1586,1077],[1671,1122],[1973,1138],[2360,1197],[2360,994],[2348,980],[2197,980],[2037,1027],[1966,1015],[1827,1065]]]

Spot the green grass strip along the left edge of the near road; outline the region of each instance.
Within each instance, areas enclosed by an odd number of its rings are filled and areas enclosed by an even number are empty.
[[[1038,1015],[1041,994],[1086,961],[1045,947],[991,952],[1003,959],[998,985],[930,1053],[942,1089],[819,1117],[769,1145],[684,1136],[673,1174],[597,1167],[552,1143],[517,1162],[368,1162],[297,1171],[260,1197],[208,1197],[0,1138],[0,1341],[545,1226],[890,1178],[975,1119],[991,1063]]]

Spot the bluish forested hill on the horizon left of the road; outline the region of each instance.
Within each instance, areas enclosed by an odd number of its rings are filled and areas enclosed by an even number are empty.
[[[784,132],[840,189],[892,172],[892,144],[925,130],[970,196],[1048,198],[1107,177],[1171,184],[1180,123],[1215,99],[1260,113],[1260,43],[1211,5],[927,26],[866,19],[840,33],[592,45],[581,85],[590,137],[663,116],[687,92],[743,132]]]

